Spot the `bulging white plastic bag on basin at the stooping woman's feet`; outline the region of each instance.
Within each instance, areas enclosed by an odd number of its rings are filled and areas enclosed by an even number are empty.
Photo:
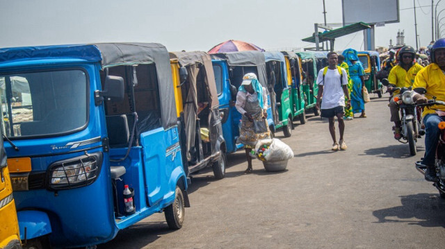
[[[284,144],[280,139],[263,139],[257,142],[255,146],[255,151],[258,151],[261,146],[267,145],[268,149],[264,151],[264,160],[274,162],[274,161],[284,161],[289,160],[293,157],[293,151],[291,147]]]

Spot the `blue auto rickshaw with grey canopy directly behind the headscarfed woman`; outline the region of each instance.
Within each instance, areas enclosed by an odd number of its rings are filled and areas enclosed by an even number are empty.
[[[236,143],[241,121],[241,114],[235,108],[238,87],[241,85],[245,74],[254,73],[258,77],[259,83],[267,89],[266,61],[261,51],[215,53],[211,54],[211,58],[227,153],[234,153],[244,146]],[[268,126],[271,132],[275,132],[269,96],[268,106]]]

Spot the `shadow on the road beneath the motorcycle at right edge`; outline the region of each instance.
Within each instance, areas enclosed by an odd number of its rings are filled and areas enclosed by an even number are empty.
[[[400,197],[401,206],[373,212],[373,215],[378,218],[375,223],[403,222],[422,227],[445,227],[445,200],[442,200],[439,194],[423,193]]]

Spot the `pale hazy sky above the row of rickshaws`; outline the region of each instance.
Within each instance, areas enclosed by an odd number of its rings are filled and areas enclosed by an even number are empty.
[[[431,0],[414,2],[423,6],[416,8],[419,46],[427,46]],[[390,39],[395,44],[398,30],[405,30],[405,44],[416,46],[414,2],[399,0],[400,22],[376,27],[375,46],[388,46]],[[341,4],[341,0],[325,0],[327,24],[342,22]],[[440,2],[437,13],[444,8],[445,1]],[[304,48],[314,44],[301,39],[314,33],[314,23],[324,22],[323,0],[0,0],[0,10],[3,48],[158,42],[168,51],[208,51],[230,39],[270,50]],[[445,33],[445,25],[442,30]],[[364,49],[362,31],[335,41],[336,50],[349,47]]]

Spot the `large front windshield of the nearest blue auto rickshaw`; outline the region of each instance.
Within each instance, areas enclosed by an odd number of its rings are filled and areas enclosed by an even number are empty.
[[[2,75],[0,94],[7,137],[70,132],[87,121],[87,76],[80,69]]]

